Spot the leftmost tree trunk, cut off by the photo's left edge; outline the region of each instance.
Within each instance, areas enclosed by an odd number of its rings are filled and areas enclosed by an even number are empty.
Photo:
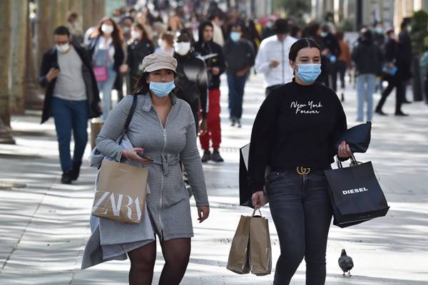
[[[9,110],[9,56],[11,46],[11,0],[0,1],[0,120],[10,127]]]

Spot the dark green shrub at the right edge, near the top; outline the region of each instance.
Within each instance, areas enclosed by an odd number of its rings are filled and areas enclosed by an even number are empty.
[[[428,13],[423,10],[414,12],[410,25],[412,26],[410,38],[412,39],[413,53],[422,55],[428,50]]]

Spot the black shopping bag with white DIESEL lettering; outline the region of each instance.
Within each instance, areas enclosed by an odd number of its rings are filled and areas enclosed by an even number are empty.
[[[332,201],[333,224],[350,227],[376,217],[384,217],[389,209],[387,199],[374,175],[372,162],[359,163],[352,157],[353,166],[326,170]]]

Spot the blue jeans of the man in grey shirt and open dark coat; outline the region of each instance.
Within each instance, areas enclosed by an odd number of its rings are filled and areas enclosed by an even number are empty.
[[[66,172],[71,170],[73,162],[82,162],[88,142],[88,100],[74,101],[54,97],[51,112],[55,119],[61,169]],[[73,162],[70,154],[71,130],[74,137]]]

